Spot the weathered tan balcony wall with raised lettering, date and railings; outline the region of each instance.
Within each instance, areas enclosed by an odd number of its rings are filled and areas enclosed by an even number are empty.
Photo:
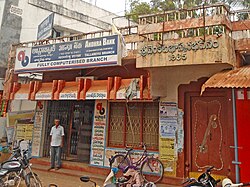
[[[231,12],[216,4],[140,16],[138,34],[144,39],[138,42],[136,65],[235,66],[235,51],[250,50],[249,12]]]

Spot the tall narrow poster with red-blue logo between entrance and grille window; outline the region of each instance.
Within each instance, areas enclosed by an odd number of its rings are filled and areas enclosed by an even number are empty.
[[[96,100],[94,125],[92,130],[90,164],[103,166],[107,101]]]

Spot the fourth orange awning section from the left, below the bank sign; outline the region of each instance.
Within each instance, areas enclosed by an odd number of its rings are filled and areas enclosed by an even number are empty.
[[[108,80],[84,80],[84,89],[80,93],[80,99],[108,99],[111,88],[113,87],[113,78]]]

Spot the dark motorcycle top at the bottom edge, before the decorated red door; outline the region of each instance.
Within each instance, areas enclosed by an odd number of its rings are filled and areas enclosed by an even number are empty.
[[[195,178],[189,178],[185,182],[183,182],[182,184],[185,187],[216,187],[217,184],[220,182],[220,179],[215,180],[211,176],[211,171],[213,168],[214,167],[212,166],[212,167],[206,169],[206,171],[198,177],[198,180]]]

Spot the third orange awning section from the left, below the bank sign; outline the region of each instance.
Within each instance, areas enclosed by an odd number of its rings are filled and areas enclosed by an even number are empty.
[[[80,92],[83,89],[83,79],[74,82],[59,80],[55,99],[59,100],[79,100]],[[58,97],[57,97],[58,95]]]

